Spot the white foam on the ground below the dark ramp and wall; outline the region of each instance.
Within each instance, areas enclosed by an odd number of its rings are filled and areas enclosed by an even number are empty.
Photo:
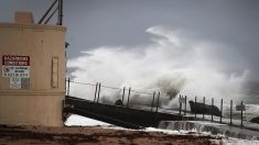
[[[114,130],[128,130],[119,126],[114,126],[111,124],[100,122],[97,120],[84,118],[80,115],[72,114],[67,121],[65,122],[66,126],[101,126],[104,129],[114,129]],[[166,134],[175,134],[175,135],[185,135],[185,134],[193,134],[193,135],[212,135],[212,136],[218,136],[223,137],[223,140],[218,141],[218,144],[223,145],[259,145],[259,141],[248,141],[248,140],[239,140],[239,138],[233,138],[227,137],[223,135],[213,135],[208,132],[196,132],[196,131],[170,131],[170,130],[161,130],[161,129],[154,129],[154,127],[145,127],[142,130],[144,132],[162,132]]]

